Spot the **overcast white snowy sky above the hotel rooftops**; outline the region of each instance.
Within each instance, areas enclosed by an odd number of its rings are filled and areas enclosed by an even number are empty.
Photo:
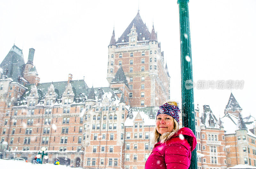
[[[40,82],[83,79],[89,87],[108,86],[108,44],[116,40],[137,14],[151,31],[154,21],[171,76],[171,99],[181,101],[179,6],[176,0],[18,1],[0,2],[0,62],[13,43],[35,48]],[[243,116],[256,116],[256,1],[190,0],[189,19],[194,81],[244,80],[232,90]],[[210,105],[224,115],[230,90],[194,89],[195,107]]]

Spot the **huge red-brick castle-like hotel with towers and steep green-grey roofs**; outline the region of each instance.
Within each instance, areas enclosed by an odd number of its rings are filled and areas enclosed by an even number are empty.
[[[108,87],[89,88],[84,80],[40,83],[35,49],[13,45],[0,64],[0,158],[31,162],[41,147],[44,162],[83,168],[142,169],[152,151],[156,111],[170,99],[170,75],[154,26],[139,11],[108,45]],[[255,119],[242,118],[231,93],[225,116],[208,105],[195,116],[199,169],[256,165]],[[180,115],[180,121],[182,117]],[[181,126],[180,126],[181,127]],[[17,147],[17,149],[16,149]]]

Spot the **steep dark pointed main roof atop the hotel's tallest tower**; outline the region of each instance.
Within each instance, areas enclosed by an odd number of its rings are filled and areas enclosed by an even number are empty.
[[[130,34],[132,25],[136,27],[136,32],[138,34],[138,40],[142,40],[143,37],[145,37],[145,40],[150,39],[150,33],[148,31],[147,26],[143,23],[141,17],[140,17],[140,12],[138,10],[137,15],[135,18],[132,20],[130,25],[125,29],[124,33],[118,38],[117,43],[121,43],[122,40],[124,39],[124,42],[129,42],[129,36],[127,34]]]

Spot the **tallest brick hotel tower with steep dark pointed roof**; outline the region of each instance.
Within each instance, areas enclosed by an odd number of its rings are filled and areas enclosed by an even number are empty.
[[[107,80],[110,85],[122,66],[131,106],[158,106],[170,98],[170,76],[154,25],[151,33],[138,11],[116,41],[113,31],[108,45]]]

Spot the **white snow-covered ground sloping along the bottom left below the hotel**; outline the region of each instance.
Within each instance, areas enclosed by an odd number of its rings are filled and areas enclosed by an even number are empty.
[[[71,169],[66,165],[53,165],[53,164],[32,164],[17,160],[3,160],[0,159],[1,169]]]

